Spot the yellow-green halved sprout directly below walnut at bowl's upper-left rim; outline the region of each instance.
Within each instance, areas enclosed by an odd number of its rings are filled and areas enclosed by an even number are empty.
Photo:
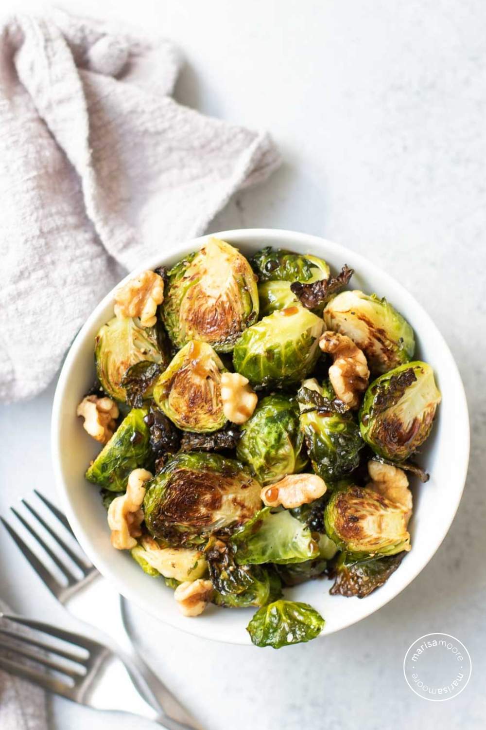
[[[140,320],[114,317],[95,337],[96,374],[103,391],[117,401],[126,401],[122,385],[128,369],[141,361],[168,365],[164,334],[160,326],[141,327]],[[149,398],[152,391],[144,392]]]

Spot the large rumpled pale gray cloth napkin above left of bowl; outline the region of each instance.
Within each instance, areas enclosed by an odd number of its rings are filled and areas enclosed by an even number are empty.
[[[56,11],[12,18],[0,44],[0,400],[12,401],[50,382],[122,267],[202,234],[279,158],[267,134],[171,99],[171,43]]]

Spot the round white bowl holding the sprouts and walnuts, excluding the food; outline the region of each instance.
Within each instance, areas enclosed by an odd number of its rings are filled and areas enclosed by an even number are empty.
[[[324,239],[292,231],[252,228],[216,234],[251,255],[264,246],[282,247],[325,258],[334,271],[342,264],[355,269],[353,288],[386,296],[415,330],[417,359],[430,363],[442,391],[442,403],[420,464],[431,474],[426,484],[414,485],[414,515],[410,523],[412,550],[388,582],[360,600],[329,596],[328,580],[314,580],[286,590],[286,596],[312,604],[326,619],[323,634],[350,626],[388,603],[428,563],[441,544],[458,509],[469,458],[469,418],[458,368],[442,335],[415,299],[388,274],[361,255]],[[141,261],[127,279],[161,264],[169,266],[199,249],[207,237],[173,246],[170,253]],[[85,470],[98,445],[82,429],[76,407],[93,383],[95,334],[113,316],[113,292],[90,315],[68,352],[55,391],[52,410],[52,461],[63,510],[74,534],[98,570],[128,600],[178,629],[197,636],[234,644],[248,644],[246,632],[255,609],[224,610],[209,607],[199,618],[184,618],[173,591],[162,580],[141,571],[130,553],[114,550],[109,540],[106,511],[98,488],[85,480]]]

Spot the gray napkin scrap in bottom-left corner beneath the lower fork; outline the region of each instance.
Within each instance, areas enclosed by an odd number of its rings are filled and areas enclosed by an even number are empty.
[[[0,601],[0,611],[9,612]],[[0,618],[0,626],[1,626]],[[7,626],[5,627],[7,628]],[[28,629],[9,623],[8,629],[28,634]],[[13,653],[15,656],[15,653]],[[0,669],[1,730],[47,730],[46,697],[39,687],[26,680],[7,675]]]

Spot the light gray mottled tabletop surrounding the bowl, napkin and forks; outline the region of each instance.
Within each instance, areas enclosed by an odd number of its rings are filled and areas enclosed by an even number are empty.
[[[484,728],[484,0],[60,5],[86,14],[102,7],[105,15],[173,39],[187,59],[179,101],[272,131],[285,164],[268,183],[232,201],[212,230],[295,228],[380,264],[442,330],[471,411],[471,468],[450,533],[414,583],[377,614],[276,653],[195,639],[134,610],[138,641],[212,730]],[[12,323],[12,337],[15,326],[21,323]],[[0,410],[3,512],[31,488],[54,493],[52,393],[53,387]],[[3,531],[0,555],[1,594],[12,607],[68,623]],[[447,703],[419,699],[402,674],[409,644],[431,631],[458,637],[473,661],[469,686]],[[55,730],[135,726],[61,699],[50,707]],[[149,726],[136,723],[140,730]]]

